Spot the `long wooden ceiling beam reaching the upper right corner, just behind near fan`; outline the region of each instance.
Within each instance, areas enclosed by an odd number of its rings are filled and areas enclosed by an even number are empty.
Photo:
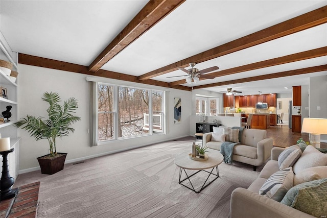
[[[227,42],[223,45],[214,47],[211,50],[199,53],[197,55],[185,58],[167,66],[155,69],[147,74],[138,77],[139,80],[148,80],[156,76],[167,74],[177,70],[177,67],[186,67],[191,62],[204,62],[223,55],[237,52],[248,47],[268,42],[273,39],[284,37],[302,30],[306,30],[322,23],[327,22],[327,6],[302,14],[284,22],[278,23],[272,27],[252,33],[242,38]]]

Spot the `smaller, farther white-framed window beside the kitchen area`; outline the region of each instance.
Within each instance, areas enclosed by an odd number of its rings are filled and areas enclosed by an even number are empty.
[[[195,98],[195,108],[196,108],[196,115],[216,115],[219,113],[218,111],[218,98],[205,98],[196,96]]]

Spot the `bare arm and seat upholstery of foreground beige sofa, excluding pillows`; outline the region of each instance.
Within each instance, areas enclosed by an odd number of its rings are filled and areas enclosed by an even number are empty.
[[[279,171],[278,156],[283,148],[271,150],[271,160],[262,169],[259,177],[245,188],[236,188],[230,197],[230,218],[275,218],[275,217],[314,217],[285,204],[259,194],[264,182],[275,172]]]

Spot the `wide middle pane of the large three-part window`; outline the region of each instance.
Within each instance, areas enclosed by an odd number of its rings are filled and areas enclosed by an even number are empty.
[[[119,87],[118,137],[148,134],[144,128],[145,115],[149,113],[149,91]]]

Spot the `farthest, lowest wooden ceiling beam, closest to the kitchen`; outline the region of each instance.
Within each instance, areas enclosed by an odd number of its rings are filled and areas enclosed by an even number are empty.
[[[290,76],[296,76],[301,74],[310,74],[311,72],[320,72],[327,70],[327,64],[326,65],[320,65],[320,66],[313,66],[313,67],[307,67],[302,69],[294,69],[294,70],[288,70],[284,72],[276,72],[274,74],[266,74],[256,77],[247,77],[243,79],[237,79],[237,80],[229,80],[229,81],[223,81],[208,85],[200,85],[193,87],[194,89],[200,89],[200,88],[209,88],[214,86],[224,86],[224,85],[230,85],[230,84],[237,84],[237,83],[247,83],[247,82],[253,82],[253,81],[259,81],[259,80],[269,80],[269,79],[275,79],[275,78],[281,78],[281,77],[290,77]]]

